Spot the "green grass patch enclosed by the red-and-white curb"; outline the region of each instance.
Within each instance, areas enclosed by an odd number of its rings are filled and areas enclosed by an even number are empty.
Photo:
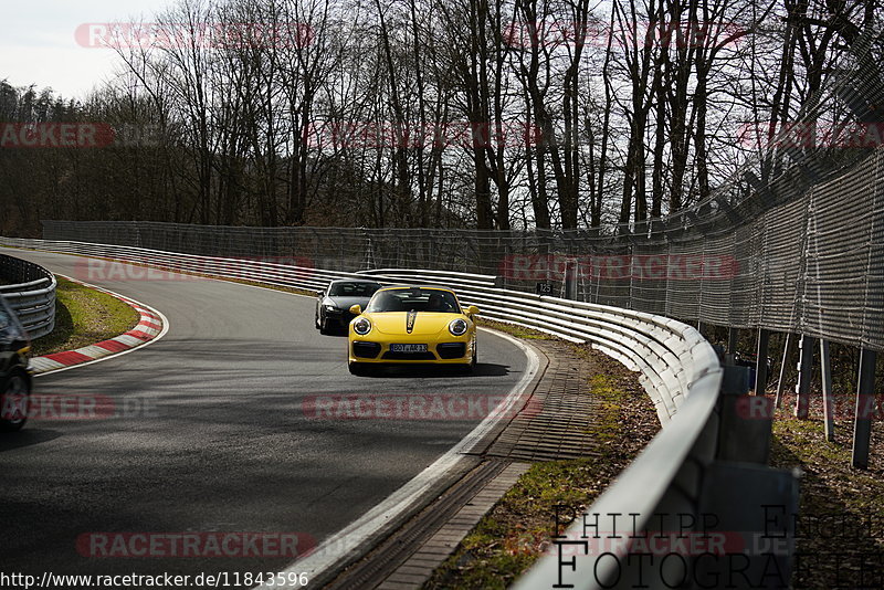
[[[34,356],[74,350],[128,331],[138,312],[106,293],[56,276],[55,329],[31,343]]]

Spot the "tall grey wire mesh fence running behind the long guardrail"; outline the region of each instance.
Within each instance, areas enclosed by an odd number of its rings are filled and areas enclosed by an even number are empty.
[[[570,232],[44,221],[43,236],[341,272],[490,274],[520,291],[549,282],[552,295],[571,280],[589,303],[884,349],[884,150],[830,177],[787,173],[776,198]]]

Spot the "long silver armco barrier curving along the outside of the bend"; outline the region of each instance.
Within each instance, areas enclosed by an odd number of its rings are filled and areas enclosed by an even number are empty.
[[[624,526],[632,535],[720,531],[739,536],[745,548],[757,535],[771,530],[767,514],[762,514],[764,506],[782,506],[787,514],[797,509],[794,475],[764,467],[769,449],[769,413],[761,412],[760,417],[749,420],[746,412],[740,411],[747,402],[744,396],[748,390],[748,369],[723,368],[699,333],[674,319],[503,289],[497,287],[496,277],[488,275],[402,268],[339,273],[83,242],[2,241],[166,271],[305,289],[323,288],[334,278],[369,276],[387,284],[444,285],[454,288],[464,304],[478,306],[483,317],[532,327],[571,341],[589,343],[639,371],[664,428],[587,513],[578,515],[565,540],[552,540],[559,549],[567,546],[577,550],[565,558],[561,554],[543,558],[517,582],[519,590],[552,588],[556,583],[573,583],[583,589],[635,584],[671,588],[670,581],[673,576],[677,578],[680,571],[686,572],[685,576],[714,575],[712,570],[719,560],[708,559],[706,554],[688,555],[682,561],[671,561],[665,568],[649,571],[646,560],[641,559],[643,554],[628,542],[618,541],[622,535],[617,531],[622,531]],[[622,518],[619,523],[618,517]],[[589,549],[592,539],[586,535],[588,518],[599,538],[606,539],[606,533],[610,535],[604,551]],[[741,566],[744,577],[766,571],[772,559],[788,583],[793,530],[791,520],[785,520],[782,526],[774,528],[790,539],[786,550],[774,556],[748,555],[748,563]],[[636,555],[640,559],[632,560]],[[701,557],[706,557],[703,563],[693,562]]]

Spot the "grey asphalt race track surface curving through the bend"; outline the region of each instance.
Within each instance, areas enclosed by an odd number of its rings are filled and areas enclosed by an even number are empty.
[[[0,436],[7,572],[280,571],[291,557],[87,557],[76,542],[91,533],[210,531],[298,533],[322,541],[481,420],[316,419],[305,414],[305,400],[499,397],[526,367],[519,348],[480,333],[473,376],[352,377],[346,339],[314,329],[313,298],[192,277],[101,280],[86,276],[75,256],[2,251],[136,298],[169,319],[168,334],[144,349],[35,380],[36,394],[109,399],[126,415],[32,419]]]

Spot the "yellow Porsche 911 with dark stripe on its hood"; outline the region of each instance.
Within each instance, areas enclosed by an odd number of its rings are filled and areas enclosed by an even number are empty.
[[[454,365],[464,372],[476,364],[478,308],[461,307],[454,292],[397,286],[375,293],[365,309],[350,307],[350,372],[366,375],[380,365]]]

